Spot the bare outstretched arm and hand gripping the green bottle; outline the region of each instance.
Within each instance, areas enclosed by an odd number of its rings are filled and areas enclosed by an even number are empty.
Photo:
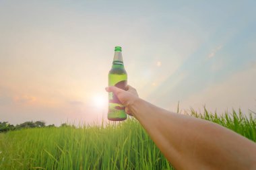
[[[106,87],[145,128],[175,169],[256,169],[255,142],[218,124],[168,112],[137,91]]]

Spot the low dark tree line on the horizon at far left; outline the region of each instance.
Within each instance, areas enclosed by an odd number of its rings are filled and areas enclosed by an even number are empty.
[[[69,126],[66,123],[61,124],[60,127],[63,126]],[[55,124],[49,124],[49,125],[45,125],[45,122],[43,121],[29,121],[29,122],[24,122],[22,124],[17,124],[16,126],[14,126],[13,124],[9,124],[9,122],[0,122],[0,133],[1,132],[7,132],[9,130],[20,130],[23,128],[44,128],[44,127],[56,127]]]

